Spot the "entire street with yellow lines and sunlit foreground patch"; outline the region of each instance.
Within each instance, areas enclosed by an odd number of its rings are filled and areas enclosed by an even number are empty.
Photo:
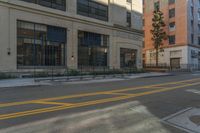
[[[200,74],[185,73],[0,88],[0,132],[200,133],[199,116],[193,121],[196,129],[173,125],[169,118],[181,110],[200,108],[199,86]]]

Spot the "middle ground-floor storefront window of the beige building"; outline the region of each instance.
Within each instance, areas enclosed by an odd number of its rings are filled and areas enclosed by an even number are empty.
[[[109,37],[91,32],[78,32],[78,66],[107,66]]]

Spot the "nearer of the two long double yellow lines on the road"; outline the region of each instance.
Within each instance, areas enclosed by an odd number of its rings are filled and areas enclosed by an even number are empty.
[[[23,112],[11,113],[11,114],[4,114],[4,115],[0,115],[0,120],[17,118],[17,117],[28,116],[28,115],[41,114],[41,113],[47,113],[47,112],[53,112],[53,111],[59,111],[59,110],[65,110],[65,109],[70,109],[70,108],[97,105],[97,104],[108,103],[108,102],[115,102],[115,101],[119,101],[119,100],[125,100],[125,99],[130,99],[130,98],[135,98],[135,97],[140,97],[140,96],[145,96],[145,95],[150,95],[150,94],[155,94],[155,93],[160,93],[160,92],[166,92],[166,91],[175,90],[178,88],[195,86],[195,85],[199,85],[199,84],[200,84],[200,82],[197,82],[197,83],[186,84],[186,85],[181,85],[181,86],[176,86],[176,87],[171,87],[171,88],[163,88],[163,89],[159,89],[159,90],[130,94],[130,95],[126,95],[126,96],[106,98],[106,99],[100,99],[100,100],[88,101],[88,102],[82,102],[82,103],[75,103],[75,104],[69,105],[69,106],[50,107],[50,108],[45,108],[45,109],[36,109],[36,110],[31,110],[31,111],[23,111]]]

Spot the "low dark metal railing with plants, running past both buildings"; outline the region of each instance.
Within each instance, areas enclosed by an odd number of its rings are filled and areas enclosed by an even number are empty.
[[[27,68],[18,69],[13,72],[0,72],[0,79],[7,78],[34,78],[35,81],[40,80],[72,80],[87,78],[107,78],[107,77],[124,77],[135,73],[143,73],[152,70],[165,70],[165,72],[193,72],[200,71],[200,65],[197,64],[180,64],[173,67],[167,64],[145,64],[143,69],[130,68],[111,68],[97,66],[80,66],[78,69],[70,69],[66,67],[46,67],[46,68]]]

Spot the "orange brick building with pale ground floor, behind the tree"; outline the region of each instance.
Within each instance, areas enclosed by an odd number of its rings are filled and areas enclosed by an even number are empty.
[[[164,41],[159,52],[159,63],[175,68],[200,66],[200,1],[199,0],[144,0],[144,62],[155,64],[156,54],[151,40],[153,11],[164,13]]]

